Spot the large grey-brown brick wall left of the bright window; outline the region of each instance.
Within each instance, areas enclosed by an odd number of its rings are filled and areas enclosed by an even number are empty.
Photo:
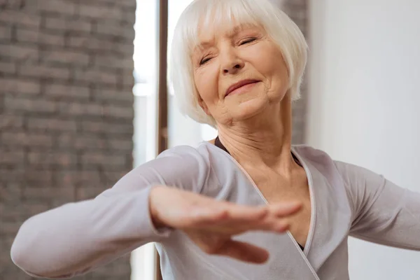
[[[0,279],[29,216],[132,168],[135,0],[0,0]],[[36,258],[36,252],[34,252]],[[127,258],[78,279],[130,279]]]

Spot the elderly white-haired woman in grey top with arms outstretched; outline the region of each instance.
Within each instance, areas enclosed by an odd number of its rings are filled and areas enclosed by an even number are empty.
[[[291,146],[307,45],[267,0],[196,0],[172,44],[181,109],[218,130],[94,200],[29,218],[11,255],[34,276],[83,274],[158,242],[164,279],[349,279],[349,235],[420,250],[420,195]]]

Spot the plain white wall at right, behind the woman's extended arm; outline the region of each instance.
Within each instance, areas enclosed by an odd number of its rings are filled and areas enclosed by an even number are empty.
[[[420,1],[309,2],[307,143],[420,192]],[[420,252],[349,246],[351,279],[420,279]]]

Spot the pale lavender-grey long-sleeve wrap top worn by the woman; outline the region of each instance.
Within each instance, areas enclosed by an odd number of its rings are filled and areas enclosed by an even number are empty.
[[[179,230],[153,227],[148,195],[158,184],[238,204],[266,203],[234,158],[203,142],[197,148],[165,151],[93,200],[64,204],[29,218],[13,243],[13,261],[34,276],[67,278],[156,241],[165,280],[345,280],[349,235],[420,250],[419,193],[308,146],[293,146],[292,152],[307,173],[311,195],[304,251],[290,233],[246,232],[236,238],[270,253],[265,264],[250,265],[207,255]]]

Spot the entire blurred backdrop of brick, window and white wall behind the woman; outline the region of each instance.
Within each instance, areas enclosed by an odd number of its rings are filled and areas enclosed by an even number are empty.
[[[310,48],[293,143],[420,191],[420,1],[272,1]],[[190,2],[0,0],[1,280],[32,279],[10,260],[27,218],[215,137],[166,87],[167,42]],[[419,262],[349,240],[351,279],[420,279]],[[148,244],[76,279],[152,280],[157,266]]]

